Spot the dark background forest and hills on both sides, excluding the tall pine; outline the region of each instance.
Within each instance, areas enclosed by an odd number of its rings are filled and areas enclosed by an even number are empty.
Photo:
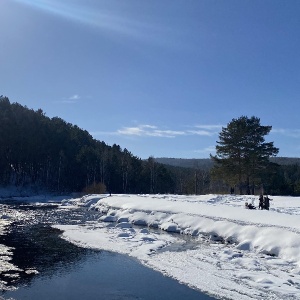
[[[300,159],[272,161],[276,169],[265,178],[265,190],[300,195]],[[212,166],[210,159],[142,160],[59,117],[49,118],[41,109],[35,111],[0,96],[1,187],[56,194],[228,193],[230,187],[211,179]]]

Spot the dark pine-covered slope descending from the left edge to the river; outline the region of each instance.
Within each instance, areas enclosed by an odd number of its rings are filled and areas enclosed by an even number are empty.
[[[174,193],[171,172],[61,118],[0,97],[0,185],[50,192]]]

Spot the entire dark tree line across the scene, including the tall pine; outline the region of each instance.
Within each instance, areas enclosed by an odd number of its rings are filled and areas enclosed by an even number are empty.
[[[238,193],[300,195],[300,166],[279,165],[258,118],[233,119],[219,135],[211,163],[191,167],[142,160],[86,130],[0,96],[0,186],[54,193]],[[255,134],[253,134],[255,132]]]

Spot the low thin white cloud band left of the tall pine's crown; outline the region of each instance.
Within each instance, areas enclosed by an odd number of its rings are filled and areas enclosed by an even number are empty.
[[[200,129],[201,126],[195,126],[188,130],[172,130],[169,128],[159,128],[154,125],[141,124],[134,127],[123,127],[115,132],[94,132],[93,135],[110,134],[120,136],[136,136],[136,137],[160,137],[160,138],[176,138],[179,136],[213,136],[218,133],[216,128],[220,128],[218,125],[203,125],[204,129]]]

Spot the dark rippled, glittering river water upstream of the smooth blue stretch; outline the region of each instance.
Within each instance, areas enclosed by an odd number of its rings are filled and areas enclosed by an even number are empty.
[[[1,212],[11,220],[0,237],[0,244],[5,245],[2,249],[11,249],[9,268],[1,268],[0,281],[6,283],[0,285],[2,289],[28,285],[36,273],[68,272],[74,262],[90,252],[60,239],[61,232],[50,225],[78,224],[94,218],[92,212],[57,210],[52,205],[40,207],[16,201],[2,204]]]

